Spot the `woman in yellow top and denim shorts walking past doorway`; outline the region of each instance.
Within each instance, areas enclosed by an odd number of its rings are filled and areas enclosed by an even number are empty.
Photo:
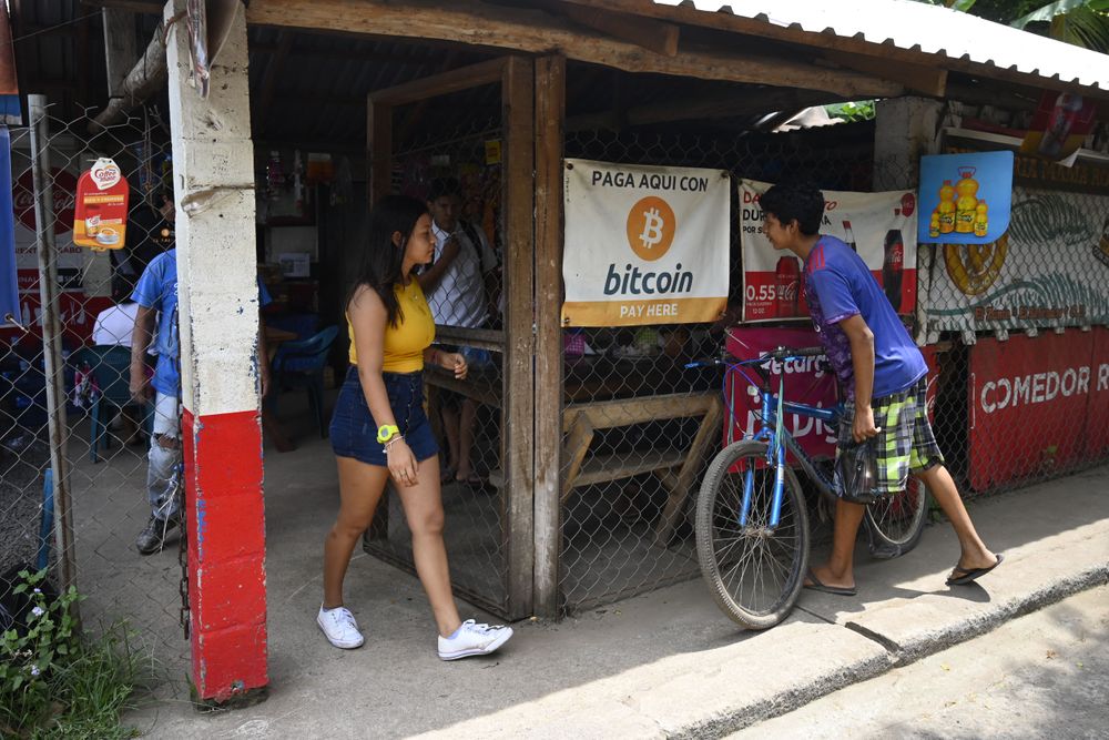
[[[355,543],[370,525],[391,478],[413,535],[416,572],[438,627],[444,660],[486,655],[510,627],[459,619],[442,541],[438,446],[424,412],[424,365],[462,379],[466,358],[431,347],[435,322],[413,275],[431,260],[431,217],[424,203],[383,199],[370,214],[369,243],[347,301],[350,368],[335,402],[330,438],[339,476],[339,511],[324,541],[324,601],[316,624],[337,648],[363,643],[343,601]]]

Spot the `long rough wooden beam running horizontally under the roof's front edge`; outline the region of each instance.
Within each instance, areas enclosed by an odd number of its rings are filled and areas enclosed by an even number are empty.
[[[404,6],[385,0],[253,0],[247,21],[560,53],[628,72],[827,90],[848,99],[888,98],[904,90],[899,84],[858,72],[722,49],[684,49],[676,57],[663,57],[633,43],[583,31],[539,10],[479,0],[456,0],[449,6],[429,0],[410,0]]]

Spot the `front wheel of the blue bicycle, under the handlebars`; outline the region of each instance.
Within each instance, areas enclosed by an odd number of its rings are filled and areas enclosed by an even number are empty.
[[[747,518],[740,524],[750,480]],[[766,444],[744,439],[713,458],[696,501],[696,551],[701,574],[720,608],[749,629],[766,629],[788,616],[808,568],[808,513],[788,467],[780,521],[770,516],[774,468]]]

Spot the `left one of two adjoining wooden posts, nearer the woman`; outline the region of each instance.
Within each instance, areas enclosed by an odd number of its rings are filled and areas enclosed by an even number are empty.
[[[511,57],[501,85],[505,125],[505,403],[501,459],[506,475],[503,496],[505,551],[508,557],[508,611],[512,619],[532,614],[535,578],[535,378],[531,358],[535,212],[535,65]]]

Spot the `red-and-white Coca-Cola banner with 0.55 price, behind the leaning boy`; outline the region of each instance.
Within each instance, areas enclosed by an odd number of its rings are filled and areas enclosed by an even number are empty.
[[[771,183],[740,181],[743,321],[808,320],[801,260],[779,252],[763,234],[759,199]],[[821,233],[838,236],[863,259],[897,313],[916,306],[916,193],[824,191]]]

